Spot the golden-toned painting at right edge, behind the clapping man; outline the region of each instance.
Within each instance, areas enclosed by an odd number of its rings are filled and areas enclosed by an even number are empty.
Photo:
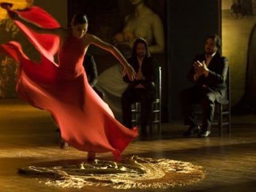
[[[222,1],[223,55],[231,69],[233,114],[256,109],[256,1]]]

